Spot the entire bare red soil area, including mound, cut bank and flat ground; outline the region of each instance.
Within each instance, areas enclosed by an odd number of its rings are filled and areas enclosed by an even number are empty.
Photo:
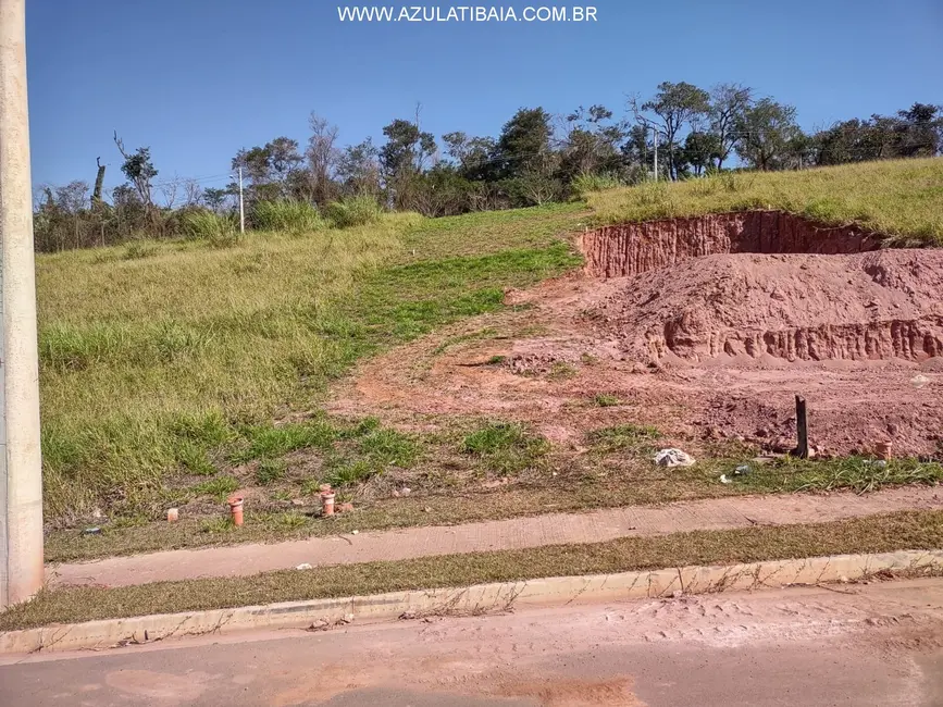
[[[803,394],[811,441],[827,454],[890,438],[899,454],[938,457],[943,251],[882,240],[779,212],[586,233],[583,272],[507,293],[526,311],[467,321],[370,362],[335,409],[400,423],[517,419],[576,450],[587,431],[625,422],[677,444],[785,450]],[[594,405],[597,395],[619,405]]]

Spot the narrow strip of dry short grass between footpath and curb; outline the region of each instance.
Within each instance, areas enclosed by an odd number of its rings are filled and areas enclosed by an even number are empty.
[[[173,613],[273,601],[348,597],[397,590],[468,586],[542,576],[732,565],[851,553],[933,549],[943,544],[943,512],[908,511],[810,525],[698,531],[587,545],[447,555],[342,565],[246,578],[160,582],[128,587],[44,591],[0,613],[0,631],[49,623]]]

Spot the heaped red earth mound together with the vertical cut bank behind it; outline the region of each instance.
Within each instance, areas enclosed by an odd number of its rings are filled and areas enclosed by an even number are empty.
[[[626,278],[590,319],[640,360],[943,355],[943,253],[879,245],[776,211],[601,228],[586,272]]]

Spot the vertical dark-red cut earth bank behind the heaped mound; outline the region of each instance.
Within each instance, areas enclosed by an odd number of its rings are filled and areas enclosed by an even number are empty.
[[[882,239],[857,226],[827,226],[782,211],[746,211],[606,226],[583,234],[579,245],[586,274],[622,277],[716,253],[865,252],[880,248]]]

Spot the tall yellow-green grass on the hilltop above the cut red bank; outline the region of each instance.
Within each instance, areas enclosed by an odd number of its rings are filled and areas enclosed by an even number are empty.
[[[829,224],[856,222],[903,243],[943,245],[943,159],[725,173],[597,193],[590,206],[600,223],[780,209]]]

